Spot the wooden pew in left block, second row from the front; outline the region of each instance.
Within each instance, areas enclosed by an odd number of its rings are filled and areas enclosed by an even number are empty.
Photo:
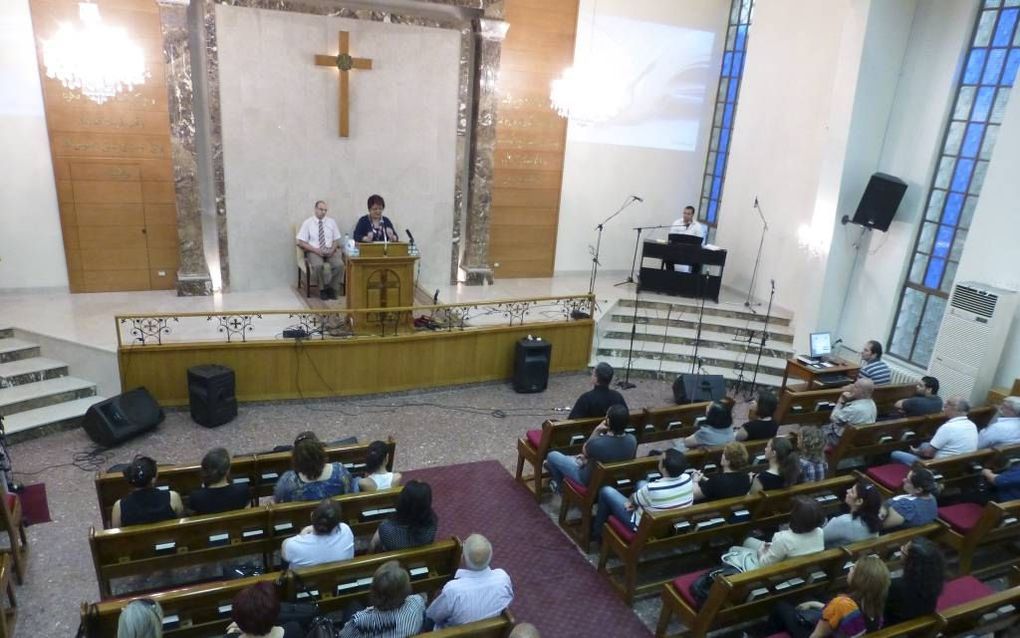
[[[344,522],[355,538],[367,539],[385,516],[372,510],[394,507],[400,488],[337,496]],[[302,501],[262,505],[214,514],[186,517],[151,525],[89,532],[93,566],[102,598],[112,596],[111,580],[139,577],[157,570],[218,565],[241,556],[260,556],[271,570],[272,555],[284,539],[309,524],[318,503]]]

